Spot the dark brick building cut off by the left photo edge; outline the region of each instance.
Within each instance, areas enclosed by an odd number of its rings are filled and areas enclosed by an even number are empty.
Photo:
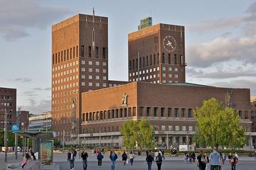
[[[0,128],[4,128],[5,115],[8,128],[11,128],[16,124],[16,89],[0,87]]]

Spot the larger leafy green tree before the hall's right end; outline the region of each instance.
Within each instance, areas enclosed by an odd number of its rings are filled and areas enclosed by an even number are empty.
[[[239,115],[233,108],[224,107],[215,98],[203,101],[201,108],[194,111],[196,135],[194,140],[199,145],[210,147],[243,147],[245,130],[239,124]]]

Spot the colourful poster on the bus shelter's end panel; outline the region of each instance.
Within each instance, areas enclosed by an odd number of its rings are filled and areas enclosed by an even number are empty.
[[[53,140],[41,142],[41,162],[42,164],[53,163]]]

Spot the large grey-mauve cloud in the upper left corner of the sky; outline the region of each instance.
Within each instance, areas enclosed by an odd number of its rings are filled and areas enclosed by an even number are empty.
[[[39,0],[1,0],[0,35],[5,40],[17,40],[29,35],[31,28],[47,28],[70,13],[67,8],[42,6]]]

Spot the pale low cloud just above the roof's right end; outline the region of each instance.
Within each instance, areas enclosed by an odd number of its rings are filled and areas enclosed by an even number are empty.
[[[209,85],[229,87],[229,88],[250,89],[251,96],[256,95],[256,81],[250,81],[247,79],[237,79],[233,81],[220,81],[220,82],[215,82],[214,84],[209,84]]]

